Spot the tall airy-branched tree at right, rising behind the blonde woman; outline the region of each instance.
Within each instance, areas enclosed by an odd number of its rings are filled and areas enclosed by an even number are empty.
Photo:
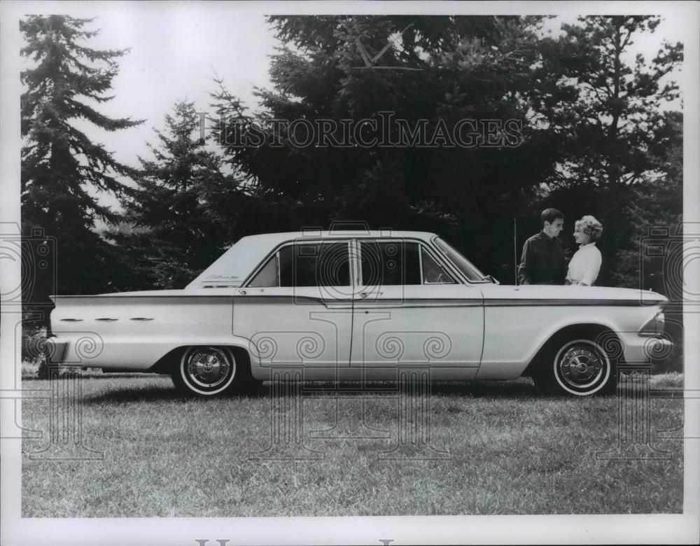
[[[556,119],[566,153],[548,180],[550,200],[568,213],[569,225],[583,214],[603,223],[603,284],[619,281],[619,250],[636,243],[628,205],[664,171],[658,158],[666,153],[656,142],[666,124],[661,105],[678,98],[678,85],[666,76],[682,62],[683,46],[663,43],[652,59],[630,58],[635,41],[659,22],[647,15],[579,18],[577,25],[562,26],[565,34],[546,59],[578,89]]]

